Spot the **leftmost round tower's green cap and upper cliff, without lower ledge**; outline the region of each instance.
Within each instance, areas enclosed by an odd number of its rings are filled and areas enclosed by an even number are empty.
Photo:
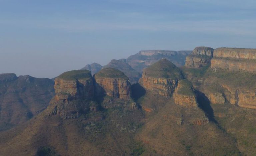
[[[55,78],[54,85],[57,100],[92,99],[94,85],[88,70],[68,71]]]

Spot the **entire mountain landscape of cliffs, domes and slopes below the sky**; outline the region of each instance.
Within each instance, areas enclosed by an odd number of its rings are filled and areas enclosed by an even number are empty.
[[[2,155],[256,155],[256,49],[140,51],[0,75]]]

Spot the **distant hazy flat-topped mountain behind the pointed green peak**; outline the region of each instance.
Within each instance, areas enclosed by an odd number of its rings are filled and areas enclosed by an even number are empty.
[[[162,58],[166,58],[178,67],[183,66],[186,56],[191,52],[192,51],[144,50],[122,60],[126,61],[136,71],[142,73],[143,69]]]

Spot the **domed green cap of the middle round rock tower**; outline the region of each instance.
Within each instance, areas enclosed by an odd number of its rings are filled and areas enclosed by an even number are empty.
[[[114,69],[114,68],[103,68],[98,73],[95,74],[95,77],[101,78],[126,78],[128,77],[121,71]]]

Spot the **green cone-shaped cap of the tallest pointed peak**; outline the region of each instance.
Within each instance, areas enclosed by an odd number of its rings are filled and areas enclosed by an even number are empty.
[[[183,79],[181,70],[167,59],[161,59],[144,70],[148,77]]]

